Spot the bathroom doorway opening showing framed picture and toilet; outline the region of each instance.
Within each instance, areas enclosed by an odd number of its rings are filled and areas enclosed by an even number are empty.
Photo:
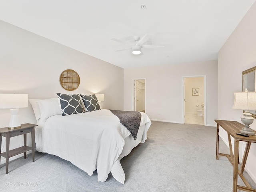
[[[206,125],[206,76],[183,77],[183,90],[184,123]]]

